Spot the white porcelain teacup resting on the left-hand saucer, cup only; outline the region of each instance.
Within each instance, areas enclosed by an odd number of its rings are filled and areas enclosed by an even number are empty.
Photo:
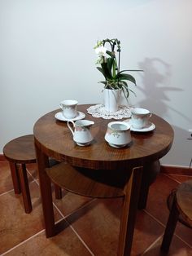
[[[60,102],[59,107],[63,110],[63,117],[72,119],[76,117],[78,101],[75,99],[65,99]]]

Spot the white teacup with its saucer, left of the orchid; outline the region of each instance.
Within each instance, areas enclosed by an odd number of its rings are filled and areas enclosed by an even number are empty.
[[[60,102],[59,107],[62,111],[55,114],[59,121],[77,121],[85,117],[85,113],[77,111],[78,101],[75,99],[65,99]]]

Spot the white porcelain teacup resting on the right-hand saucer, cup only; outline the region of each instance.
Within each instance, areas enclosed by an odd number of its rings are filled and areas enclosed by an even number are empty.
[[[135,129],[142,129],[148,126],[149,119],[152,113],[145,108],[132,108],[131,109],[131,124]]]

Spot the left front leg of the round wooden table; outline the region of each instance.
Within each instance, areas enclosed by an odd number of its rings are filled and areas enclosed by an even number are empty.
[[[35,143],[37,154],[37,166],[41,189],[41,203],[45,221],[46,237],[55,236],[55,218],[52,201],[50,178],[46,174],[46,167],[49,167],[49,157],[47,157]]]

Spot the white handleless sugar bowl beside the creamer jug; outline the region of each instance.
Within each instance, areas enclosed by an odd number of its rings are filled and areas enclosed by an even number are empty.
[[[124,121],[111,121],[107,125],[105,140],[115,148],[125,147],[131,142],[130,126]]]

